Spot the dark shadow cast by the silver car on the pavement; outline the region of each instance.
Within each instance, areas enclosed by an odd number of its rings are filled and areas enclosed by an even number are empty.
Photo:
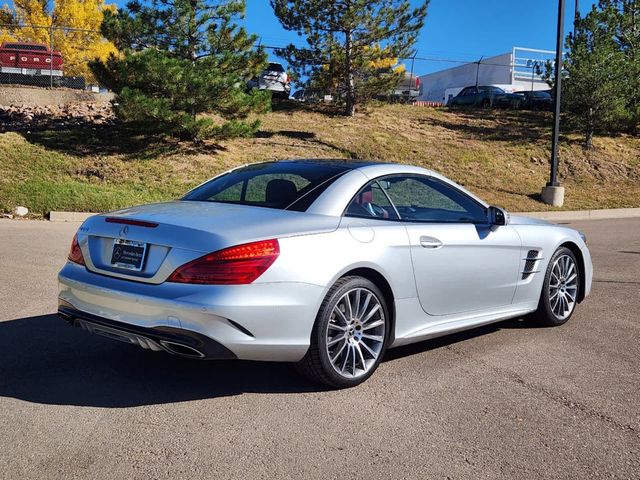
[[[525,325],[511,320],[395,348],[387,352],[385,361]],[[0,322],[0,397],[124,408],[242,393],[325,390],[289,364],[183,359],[91,335],[70,327],[57,315]]]

